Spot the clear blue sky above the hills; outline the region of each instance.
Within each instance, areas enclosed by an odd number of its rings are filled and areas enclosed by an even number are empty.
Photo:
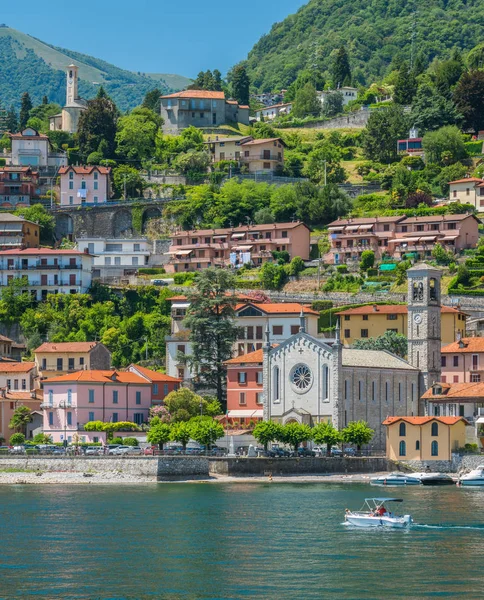
[[[2,2],[6,25],[70,50],[146,73],[225,73],[272,24],[304,0],[83,0]]]

